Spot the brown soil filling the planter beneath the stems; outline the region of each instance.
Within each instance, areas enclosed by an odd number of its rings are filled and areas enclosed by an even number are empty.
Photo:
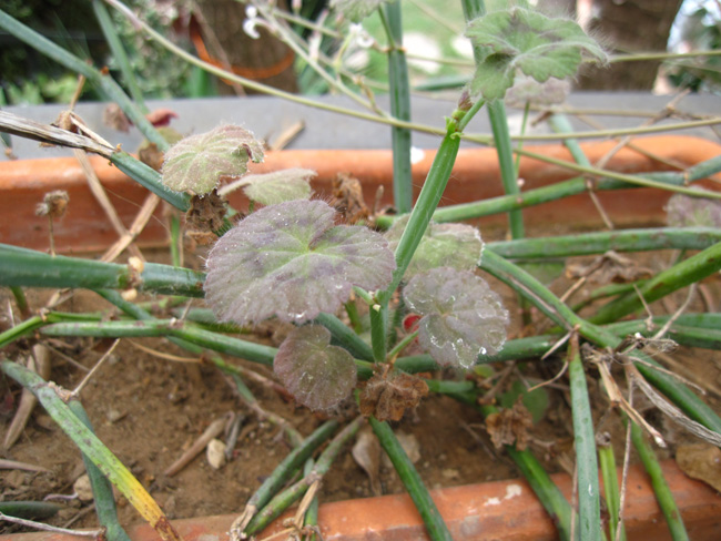
[[[653,265],[653,261],[666,262],[668,257],[657,255],[656,259],[648,259],[644,264]],[[568,282],[560,279],[554,284],[554,290],[562,293],[567,286]],[[710,287],[718,299],[721,288],[718,284],[710,284]],[[47,292],[34,292],[30,297],[33,307],[41,306],[47,296]],[[510,292],[506,290],[505,296],[507,303],[512,302]],[[8,306],[8,298],[9,296],[4,295],[3,307]],[[677,306],[682,300],[682,295],[673,299]],[[108,309],[108,306],[93,294],[79,292],[60,309],[89,312]],[[669,308],[672,306],[667,306],[667,309]],[[654,305],[654,309],[659,313],[662,310],[660,305],[658,308]],[[690,308],[701,309],[703,307],[700,302]],[[515,321],[515,328],[518,328],[518,321]],[[23,340],[8,348],[3,355],[12,358],[18,355],[20,347],[28,347],[30,343],[31,340]],[[170,361],[139,349],[135,344],[165,354],[189,356],[163,339],[122,340],[111,360],[102,367],[81,395],[95,432],[149,488],[153,498],[171,518],[240,512],[265,476],[273,471],[290,450],[278,428],[260,421],[248,411],[236,398],[229,381],[213,367]],[[92,367],[109,348],[111,340],[79,338],[51,340],[50,345],[64,354],[52,355],[51,379],[67,389],[72,389],[85,371],[73,366],[64,357],[71,357],[87,368]],[[707,387],[711,388],[721,387],[721,367],[717,354],[682,349],[674,354],[674,358],[691,370],[690,377],[693,380],[708,382]],[[246,368],[271,376],[270,370],[264,367],[240,363]],[[552,377],[561,367],[561,363],[550,360],[545,364],[526,363],[519,366],[532,384]],[[444,376],[455,375],[447,372]],[[619,381],[621,379],[619,378]],[[595,370],[591,370],[589,384],[598,425],[608,410],[608,401],[600,389]],[[248,387],[265,409],[287,419],[304,436],[323,421],[307,410],[296,408],[275,390],[253,381],[248,381]],[[573,463],[567,379],[561,378],[549,390],[551,404],[546,418],[531,430],[530,447],[550,471],[558,471],[572,468]],[[2,433],[10,423],[13,400],[19,398],[19,394],[14,382],[7,378],[0,379]],[[707,399],[717,411],[721,411],[718,395],[710,394]],[[177,476],[165,477],[163,470],[190,447],[210,422],[229,411],[246,416],[233,460],[222,469],[214,470],[203,453]],[[606,417],[603,429],[609,430],[613,441],[618,443],[617,458],[621,460],[623,430],[615,419],[616,416]],[[652,412],[649,419],[660,427],[671,441],[682,441],[687,438],[680,430],[667,427],[667,421],[660,414]],[[518,477],[517,470],[504,453],[494,450],[483,427],[484,421],[479,414],[440,396],[428,397],[415,412],[406,414],[403,421],[394,423],[396,431],[412,433],[417,438],[420,459],[416,466],[430,488]],[[41,408],[33,414],[19,442],[3,456],[42,466],[51,471],[0,471],[0,499],[4,501],[42,500],[49,494],[71,494],[73,482],[83,473],[79,451]],[[382,470],[380,481],[384,493],[404,490],[392,469]],[[372,490],[367,476],[355,463],[349,452],[342,453],[324,480],[321,501],[368,496],[372,496]],[[95,519],[90,510],[92,504],[73,501],[49,522],[57,525],[71,522],[73,528],[91,527],[94,525]],[[122,498],[120,518],[125,524],[140,521],[140,517]],[[10,531],[18,531],[18,528],[3,524],[0,533]]]

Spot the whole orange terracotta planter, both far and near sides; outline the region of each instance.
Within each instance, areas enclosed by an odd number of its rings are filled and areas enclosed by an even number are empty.
[[[634,140],[638,150],[623,149],[607,165],[624,173],[668,170],[668,163],[689,166],[721,154],[721,145],[688,136],[658,136]],[[613,142],[585,143],[591,162],[602,157]],[[561,145],[527,147],[554,157],[571,161]],[[414,183],[419,190],[435,152],[428,151],[413,167]],[[653,157],[649,157],[653,156]],[[129,225],[146,191],[130,181],[105,160],[91,157],[93,167],[105,186],[123,222]],[[362,180],[368,203],[384,186],[383,202],[390,203],[392,155],[388,151],[284,151],[270,153],[255,172],[285,167],[307,167],[318,172],[315,188],[321,196],[332,192],[338,172],[349,172]],[[555,165],[535,160],[521,160],[520,177],[525,190],[569,178],[572,175]],[[116,239],[102,208],[93,198],[82,169],[74,159],[29,160],[0,163],[0,242],[45,249],[48,224],[34,215],[35,205],[44,193],[67,190],[70,194],[68,215],[54,226],[55,244],[65,253],[100,251]],[[461,150],[453,177],[441,204],[456,204],[501,195],[499,171],[494,150]],[[633,190],[599,194],[618,224],[658,223],[663,220],[668,193],[657,190]],[[242,205],[234,194],[232,203]],[[159,214],[159,211],[156,214]],[[530,207],[524,211],[529,225],[563,223],[598,223],[598,214],[587,195]],[[505,223],[505,216],[486,222]],[[18,224],[23,224],[18,227]],[[140,237],[141,245],[166,244],[162,221],[149,223]],[[681,509],[684,522],[694,540],[721,539],[721,496],[707,484],[686,477],[672,462],[663,465],[667,480]],[[566,474],[551,476],[569,498],[571,480]],[[670,539],[666,522],[656,503],[646,473],[633,467],[630,471],[627,498],[627,528],[631,539]],[[550,540],[556,529],[525,481],[500,481],[449,488],[431,492],[454,539],[458,540]],[[206,517],[174,521],[186,541],[222,541],[232,516]],[[282,529],[283,519],[271,525],[265,534]],[[319,523],[324,539],[337,541],[427,539],[423,522],[407,496],[387,496],[326,503],[321,507]],[[148,525],[130,529],[133,541],[158,539]],[[6,535],[7,541],[74,541],[54,533]]]

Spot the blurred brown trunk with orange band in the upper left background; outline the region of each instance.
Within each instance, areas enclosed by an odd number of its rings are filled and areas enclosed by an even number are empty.
[[[254,40],[243,31],[245,6],[236,0],[200,0],[199,7],[215,39],[204,35],[205,47],[211,55],[221,59],[212,45],[217,42],[233,71],[276,89],[297,92],[293,51],[273,37],[265,28],[258,28],[261,37]],[[210,38],[210,39],[209,39]],[[227,84],[219,85],[221,93],[231,94]],[[248,94],[253,91],[245,89]]]

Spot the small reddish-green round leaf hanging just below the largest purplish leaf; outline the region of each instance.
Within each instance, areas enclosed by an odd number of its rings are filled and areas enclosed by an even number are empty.
[[[331,331],[321,325],[293,329],[275,355],[273,370],[288,392],[314,411],[341,404],[357,378],[353,356],[331,346]]]

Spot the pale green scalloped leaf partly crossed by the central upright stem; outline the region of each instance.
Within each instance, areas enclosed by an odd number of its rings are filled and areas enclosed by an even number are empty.
[[[396,220],[385,233],[388,247],[395,252],[408,224],[408,216]],[[480,232],[466,224],[437,224],[430,222],[404,275],[410,279],[436,267],[474,270],[480,263],[484,242]]]

